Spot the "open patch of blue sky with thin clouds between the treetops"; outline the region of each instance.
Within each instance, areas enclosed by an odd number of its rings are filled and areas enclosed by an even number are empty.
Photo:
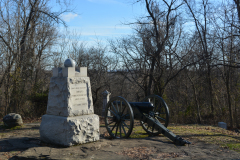
[[[142,4],[132,4],[133,0],[73,0],[70,9],[62,19],[67,24],[67,31],[81,34],[81,39],[91,45],[96,40],[107,42],[108,39],[121,37],[133,32],[129,25],[145,13]],[[66,30],[63,26],[60,27]]]

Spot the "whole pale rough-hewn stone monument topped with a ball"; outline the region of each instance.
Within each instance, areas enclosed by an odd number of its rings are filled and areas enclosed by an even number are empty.
[[[72,59],[67,59],[64,66],[53,68],[40,139],[63,146],[97,141],[99,117],[94,114],[87,67],[75,67]]]

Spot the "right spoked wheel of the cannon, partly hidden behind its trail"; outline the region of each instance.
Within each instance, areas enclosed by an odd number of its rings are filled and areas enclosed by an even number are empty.
[[[165,101],[158,95],[150,95],[145,97],[143,102],[150,102],[154,106],[153,111],[150,111],[149,114],[167,127],[169,122],[169,110]],[[147,123],[140,121],[140,124],[149,135],[155,136],[160,134],[160,131],[155,130],[152,126],[148,126]]]

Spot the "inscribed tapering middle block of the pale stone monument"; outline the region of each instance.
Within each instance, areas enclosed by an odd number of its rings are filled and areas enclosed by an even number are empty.
[[[52,77],[47,114],[64,117],[94,114],[89,77]]]

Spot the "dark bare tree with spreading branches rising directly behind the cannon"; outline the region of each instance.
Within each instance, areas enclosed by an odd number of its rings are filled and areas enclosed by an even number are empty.
[[[183,3],[176,0],[141,2],[148,16],[132,23],[133,36],[111,41],[110,46],[112,52],[120,56],[119,68],[126,71],[123,74],[132,84],[137,84],[139,91],[145,96],[152,93],[162,96],[168,83],[195,63],[188,63],[187,53],[179,52],[182,25],[178,9]]]

